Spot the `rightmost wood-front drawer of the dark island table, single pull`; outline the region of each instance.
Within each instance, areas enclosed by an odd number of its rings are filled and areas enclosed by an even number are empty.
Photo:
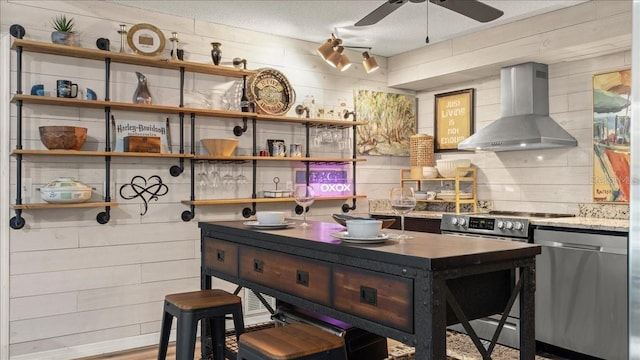
[[[413,332],[411,279],[334,266],[333,284],[337,310]]]

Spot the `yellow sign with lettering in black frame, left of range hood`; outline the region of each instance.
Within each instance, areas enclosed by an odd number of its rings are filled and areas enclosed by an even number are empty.
[[[474,89],[435,95],[434,152],[458,150],[473,134],[474,109]]]

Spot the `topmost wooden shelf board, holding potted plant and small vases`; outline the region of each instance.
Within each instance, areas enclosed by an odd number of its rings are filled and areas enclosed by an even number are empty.
[[[81,59],[89,60],[101,60],[111,59],[111,62],[149,66],[161,69],[180,70],[184,68],[185,71],[195,72],[200,74],[219,75],[227,77],[241,78],[243,75],[252,75],[256,72],[253,70],[236,69],[229,66],[220,66],[213,64],[201,64],[190,61],[163,59],[158,56],[145,56],[135,54],[123,54],[114,51],[94,50],[88,48],[81,48],[76,46],[58,45],[45,43],[40,41],[15,39],[13,41],[12,49],[21,46],[24,51],[30,51],[41,54],[69,56]]]

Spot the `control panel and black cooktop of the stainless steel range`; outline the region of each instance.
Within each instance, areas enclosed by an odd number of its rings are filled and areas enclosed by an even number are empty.
[[[440,230],[443,234],[489,237],[531,242],[531,219],[573,217],[571,214],[491,211],[474,214],[443,214]]]

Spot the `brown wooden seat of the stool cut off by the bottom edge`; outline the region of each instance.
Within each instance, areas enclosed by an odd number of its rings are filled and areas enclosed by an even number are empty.
[[[346,360],[344,339],[315,326],[294,323],[247,332],[237,360]]]

